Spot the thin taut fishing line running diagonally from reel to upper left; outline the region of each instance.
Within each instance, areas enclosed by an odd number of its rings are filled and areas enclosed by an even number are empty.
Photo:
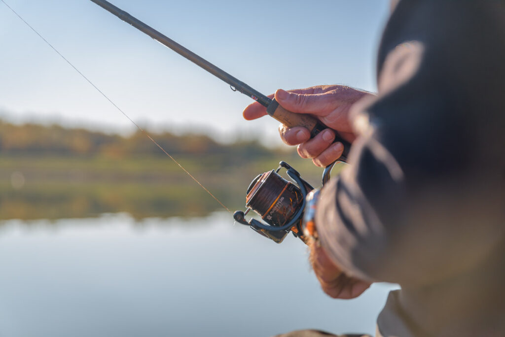
[[[21,19],[21,21],[23,21],[28,27],[30,27],[31,30],[33,30],[35,32],[35,34],[37,34],[49,47],[51,47],[54,51],[56,51],[56,53],[58,53],[58,55],[60,55],[60,57],[65,60],[72,68],[74,68],[74,70],[82,76],[82,78],[84,78],[89,84],[91,84],[91,86],[93,86],[93,88],[95,88],[100,94],[102,94],[102,96],[104,96],[109,102],[111,102],[112,105],[114,105],[114,107],[116,109],[118,109],[120,111],[121,114],[123,114],[128,120],[130,120],[130,122],[133,123],[133,125],[135,125],[138,130],[140,130],[140,132],[142,132],[145,136],[147,136],[147,138],[149,138],[153,143],[156,144],[156,146],[158,146],[170,159],[172,159],[181,169],[182,171],[184,171],[196,184],[200,185],[201,188],[203,188],[207,193],[209,193],[209,195],[211,197],[214,198],[214,200],[216,200],[221,206],[223,206],[224,209],[226,209],[229,213],[231,213],[231,211],[228,209],[228,207],[226,207],[218,198],[216,198],[216,196],[214,196],[214,194],[211,193],[211,191],[209,191],[204,185],[202,185],[196,178],[194,178],[177,160],[175,160],[174,157],[172,157],[167,151],[165,151],[165,149],[163,148],[163,146],[161,146],[160,144],[158,144],[158,142],[156,142],[146,131],[144,131],[144,129],[142,129],[137,123],[135,123],[128,115],[126,115],[126,113],[119,107],[116,105],[116,103],[114,103],[112,101],[112,99],[110,99],[102,90],[98,89],[98,87],[96,85],[93,84],[93,82],[91,82],[86,76],[84,76],[83,73],[81,73],[79,71],[79,69],[77,69],[69,60],[67,60],[67,58],[65,58],[61,52],[59,52],[51,43],[49,43],[42,35],[39,34],[39,32],[37,32],[35,30],[35,28],[33,28],[28,22],[26,22],[25,19],[23,19],[14,9],[12,9],[9,5],[6,4],[6,2],[4,0],[0,0],[2,3],[4,3],[5,6],[7,6],[7,8],[9,8],[19,19]]]

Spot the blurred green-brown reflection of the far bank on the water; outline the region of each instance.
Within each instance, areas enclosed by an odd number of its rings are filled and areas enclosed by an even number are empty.
[[[2,190],[0,189],[0,192]],[[229,207],[241,207],[236,198],[242,191],[217,193]],[[0,193],[1,194],[1,193]],[[134,218],[159,216],[208,216],[220,205],[198,186],[174,184],[53,184],[0,195],[2,219],[61,219],[97,217],[103,213],[128,212]],[[240,193],[240,195],[242,195]]]

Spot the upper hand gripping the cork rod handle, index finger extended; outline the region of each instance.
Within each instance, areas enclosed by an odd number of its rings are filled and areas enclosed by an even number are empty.
[[[335,131],[349,142],[356,138],[348,120],[349,110],[354,103],[369,95],[372,94],[343,85],[321,85],[290,91],[279,89],[275,93],[275,99],[282,107],[293,113],[313,115],[328,127],[310,139],[310,131],[306,128],[288,128],[281,124],[281,139],[288,145],[298,145],[298,154],[302,158],[312,158],[317,166],[329,165],[343,151],[341,143],[333,143]],[[254,120],[266,114],[266,107],[258,102],[248,105],[243,111],[246,120]]]

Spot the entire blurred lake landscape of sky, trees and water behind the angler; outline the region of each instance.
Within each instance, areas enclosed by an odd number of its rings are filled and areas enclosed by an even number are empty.
[[[90,1],[5,1],[232,211],[280,160],[319,186],[248,97]],[[386,0],[113,4],[265,94],[376,89]],[[375,331],[393,285],[327,298],[299,240],[233,226],[1,3],[0,45],[1,336]]]

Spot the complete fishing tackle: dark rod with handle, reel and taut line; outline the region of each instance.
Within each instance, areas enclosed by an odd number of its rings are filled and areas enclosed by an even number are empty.
[[[118,16],[120,19],[130,23],[147,35],[153,37],[154,39],[183,55],[185,58],[194,62],[201,68],[204,68],[218,78],[222,79],[228,83],[234,91],[240,91],[250,96],[252,99],[260,102],[267,107],[267,113],[270,116],[274,117],[284,125],[288,127],[306,127],[311,131],[312,137],[326,128],[323,124],[309,115],[295,114],[291,111],[285,110],[275,101],[275,99],[270,99],[255,89],[252,89],[248,85],[237,80],[233,76],[229,75],[208,61],[200,58],[192,51],[184,48],[180,44],[174,42],[153,28],[145,25],[141,21],[133,18],[128,13],[120,10],[107,1],[91,1],[98,4],[99,6],[102,6],[109,12]],[[216,196],[214,196],[205,186],[203,186],[196,178],[194,178],[174,157],[165,151],[165,149],[160,144],[158,144],[151,136],[149,136],[148,133],[146,133],[140,126],[138,126],[116,103],[114,103],[103,91],[101,91],[83,73],[81,73],[51,43],[49,43],[42,35],[40,35],[35,30],[35,28],[33,28],[16,11],[14,11],[8,4],[6,4],[4,0],[0,0],[0,2],[4,3],[5,6],[7,6],[15,15],[17,15],[19,19],[21,19],[30,29],[32,29],[45,43],[47,43],[47,45],[54,49],[55,52],[60,55],[60,57],[62,57],[72,68],[74,68],[77,73],[79,73],[87,82],[89,82],[90,85],[92,85],[100,94],[109,100],[111,104],[113,104],[126,118],[128,118],[141,132],[143,132],[165,154],[167,154],[167,156],[169,156],[177,165],[179,165],[179,167],[181,167],[181,169],[189,177],[191,177],[198,185],[207,191],[218,203],[221,204],[221,206],[223,206],[223,208],[230,212],[230,210],[218,198],[216,198]],[[336,141],[340,141],[344,145],[344,152],[338,160],[345,162],[350,144],[339,137],[336,137]],[[322,177],[323,186],[329,181],[330,172],[335,162],[336,161],[326,166]],[[294,184],[282,178],[278,174],[281,168],[285,168],[287,176],[289,176]],[[317,233],[315,232],[314,227],[314,215],[318,200],[318,194],[319,189],[314,189],[307,181],[301,178],[300,174],[292,166],[284,161],[281,161],[277,170],[272,170],[270,172],[260,174],[250,183],[246,191],[245,206],[247,209],[245,212],[240,210],[235,211],[233,213],[233,218],[238,223],[249,226],[257,233],[273,240],[276,243],[281,243],[286,235],[290,232],[293,233],[295,237],[301,239],[301,241],[309,243],[311,240],[317,239]],[[255,213],[260,215],[266,224],[254,218],[246,220],[245,215],[250,210],[253,210]]]

